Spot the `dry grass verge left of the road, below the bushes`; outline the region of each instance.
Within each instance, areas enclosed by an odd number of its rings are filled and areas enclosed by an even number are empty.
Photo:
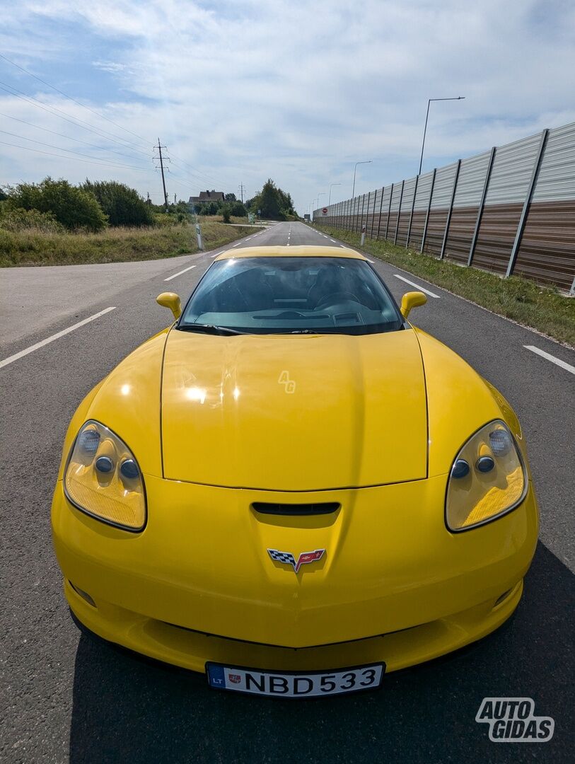
[[[204,248],[214,249],[247,236],[252,228],[200,222]],[[163,228],[106,228],[99,234],[44,233],[0,228],[0,267],[120,263],[177,257],[198,251],[193,225]]]

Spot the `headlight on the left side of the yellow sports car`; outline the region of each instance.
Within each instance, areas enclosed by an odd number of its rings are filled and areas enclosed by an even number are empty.
[[[127,530],[146,524],[144,478],[128,446],[108,427],[90,420],[70,454],[64,490],[79,510]]]

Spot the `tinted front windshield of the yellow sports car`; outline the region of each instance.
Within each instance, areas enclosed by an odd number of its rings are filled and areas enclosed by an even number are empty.
[[[402,316],[366,261],[349,257],[238,257],[215,262],[178,329],[250,334],[372,334]]]

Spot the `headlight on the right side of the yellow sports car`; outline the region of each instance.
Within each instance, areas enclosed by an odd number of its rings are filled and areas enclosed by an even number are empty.
[[[509,427],[499,419],[475,433],[454,460],[445,521],[453,531],[483,525],[511,511],[527,493],[527,475]]]

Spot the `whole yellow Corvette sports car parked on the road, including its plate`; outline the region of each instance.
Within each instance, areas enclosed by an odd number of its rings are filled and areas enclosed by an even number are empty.
[[[221,254],[70,423],[53,541],[111,642],[282,698],[377,688],[515,610],[538,510],[511,406],[363,255]]]

